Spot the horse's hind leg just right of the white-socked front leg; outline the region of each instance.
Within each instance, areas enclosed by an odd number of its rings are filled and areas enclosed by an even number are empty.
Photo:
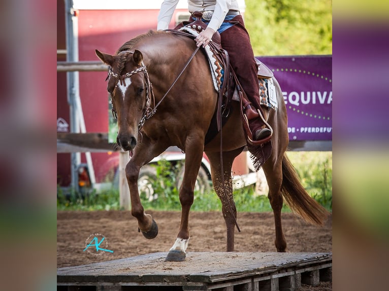
[[[211,163],[212,183],[217,196],[221,201],[225,226],[227,228],[227,251],[234,251],[236,206],[233,197],[233,184],[231,168],[234,159],[242,152],[243,148],[223,152],[224,186],[221,177],[220,153],[206,152]]]

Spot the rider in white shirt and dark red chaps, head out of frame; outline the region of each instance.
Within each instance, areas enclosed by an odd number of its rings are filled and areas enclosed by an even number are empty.
[[[158,15],[158,30],[168,28],[178,2],[179,0],[164,0],[161,4]],[[202,17],[207,28],[197,36],[197,46],[205,47],[208,45],[215,31],[219,31],[221,46],[229,54],[230,63],[242,89],[253,107],[260,108],[258,65],[254,60],[250,38],[239,12],[238,0],[188,0],[188,10],[190,13],[207,11],[207,13],[203,13]],[[268,112],[268,108],[263,107],[262,112],[266,119],[265,114]],[[271,134],[270,129],[264,128],[264,122],[261,118],[250,120],[249,126],[254,140],[262,140]]]

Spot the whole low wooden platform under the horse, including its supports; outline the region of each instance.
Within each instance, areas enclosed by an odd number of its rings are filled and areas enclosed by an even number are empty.
[[[57,269],[57,290],[293,291],[332,280],[332,253],[167,252]]]

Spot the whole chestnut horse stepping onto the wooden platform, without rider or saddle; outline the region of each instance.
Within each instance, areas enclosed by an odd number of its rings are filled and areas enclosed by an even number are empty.
[[[182,71],[195,50],[196,43],[190,38],[168,31],[150,31],[123,44],[115,55],[95,51],[110,66],[108,92],[117,114],[117,143],[124,151],[129,151],[131,156],[125,167],[131,193],[131,211],[138,220],[139,229],[148,239],[156,237],[158,227],[141,204],[138,193],[139,170],[170,146],[175,145],[186,154],[184,176],[179,189],[181,224],[167,261],[185,259],[189,240],[189,210],[203,152],[210,160],[213,187],[222,202],[227,230],[226,250],[234,250],[237,211],[233,200],[231,167],[235,157],[246,145],[240,104],[232,101],[231,116],[222,128],[222,139],[219,132],[205,145],[205,136],[215,113],[217,92],[204,53],[197,52]],[[182,75],[177,79],[181,72]],[[268,116],[268,123],[274,130],[273,151],[263,168],[274,212],[275,246],[277,251],[285,251],[286,241],[281,226],[283,197],[292,210],[310,223],[322,225],[328,212],[304,190],[285,156],[288,145],[286,107],[279,84],[274,78],[273,81],[278,108],[271,110]]]

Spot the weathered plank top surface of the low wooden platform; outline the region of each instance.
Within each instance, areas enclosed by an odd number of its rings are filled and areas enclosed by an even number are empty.
[[[205,289],[294,276],[331,268],[332,253],[188,252],[184,262],[165,262],[167,252],[57,269],[58,285],[203,286]],[[246,281],[245,281],[246,280]],[[235,283],[234,283],[235,282]]]

